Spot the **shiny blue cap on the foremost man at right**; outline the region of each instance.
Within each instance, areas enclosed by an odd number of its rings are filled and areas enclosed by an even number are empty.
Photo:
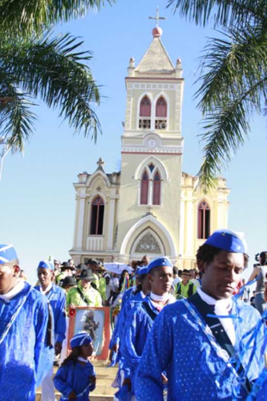
[[[228,252],[247,253],[245,239],[230,230],[216,230],[203,245],[212,245]]]

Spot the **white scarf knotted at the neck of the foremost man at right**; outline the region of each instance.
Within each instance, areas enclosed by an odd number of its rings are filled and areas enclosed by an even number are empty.
[[[210,297],[208,294],[206,294],[202,289],[199,287],[198,288],[198,294],[201,298],[202,301],[206,302],[208,305],[215,305],[214,308],[214,313],[215,315],[218,316],[227,316],[231,312],[232,306],[233,306],[233,301],[232,298],[226,298],[223,300],[216,300],[212,297]],[[234,345],[235,344],[235,331],[234,331],[234,323],[233,319],[229,318],[218,318],[219,321],[221,322],[222,327],[228,334],[228,337],[230,338],[231,343]]]

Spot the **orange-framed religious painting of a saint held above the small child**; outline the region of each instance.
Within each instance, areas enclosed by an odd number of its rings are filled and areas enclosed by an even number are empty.
[[[111,336],[110,308],[78,306],[70,310],[68,349],[71,337],[82,331],[87,332],[92,338],[94,345],[92,356],[96,359],[107,359]]]

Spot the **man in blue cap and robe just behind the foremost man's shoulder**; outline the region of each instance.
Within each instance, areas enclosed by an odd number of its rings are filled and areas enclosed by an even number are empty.
[[[151,261],[147,268],[151,292],[142,302],[138,302],[132,307],[124,324],[125,329],[120,346],[125,372],[124,384],[131,388],[132,395],[135,393],[136,369],[154,319],[163,307],[176,302],[176,299],[169,293],[173,281],[171,262],[167,258],[157,258]]]

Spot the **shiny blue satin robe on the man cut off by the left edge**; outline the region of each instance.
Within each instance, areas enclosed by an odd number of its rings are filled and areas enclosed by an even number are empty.
[[[20,302],[25,300],[10,330],[3,333]],[[54,349],[48,345],[46,298],[25,283],[10,301],[0,299],[0,401],[34,401],[36,388],[48,374]]]

